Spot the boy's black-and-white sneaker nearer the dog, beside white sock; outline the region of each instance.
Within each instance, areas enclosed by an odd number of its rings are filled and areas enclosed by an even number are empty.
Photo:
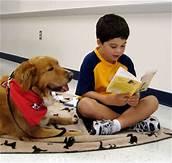
[[[111,135],[113,134],[114,122],[111,120],[97,120],[93,121],[91,128],[91,135]]]

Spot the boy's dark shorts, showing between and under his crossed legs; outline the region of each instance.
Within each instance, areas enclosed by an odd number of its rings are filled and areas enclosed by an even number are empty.
[[[101,103],[101,102],[100,102]],[[114,106],[114,105],[106,105],[108,108],[110,108],[111,110],[113,110],[115,113],[118,113],[118,114],[122,114],[123,112],[125,112],[130,106],[127,104],[127,105],[124,105],[124,106]],[[88,131],[91,130],[91,127],[92,127],[92,124],[93,124],[93,121],[94,119],[89,119],[89,118],[85,118],[83,117],[79,111],[78,111],[78,108],[76,108],[76,111],[77,111],[77,114],[78,116],[83,120],[86,128]]]

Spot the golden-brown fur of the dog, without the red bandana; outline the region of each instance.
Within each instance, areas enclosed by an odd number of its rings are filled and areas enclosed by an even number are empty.
[[[58,61],[48,56],[40,56],[31,58],[21,63],[13,73],[13,78],[22,87],[23,91],[32,90],[41,98],[49,98],[51,91],[66,91],[67,83],[71,80],[72,75],[69,71],[60,67]],[[6,81],[7,77],[0,80]],[[62,130],[55,128],[47,128],[46,126],[37,125],[30,127],[21,113],[16,109],[13,99],[10,98],[14,117],[9,110],[7,101],[7,91],[0,87],[0,134],[8,134],[19,139],[28,138],[47,138],[59,135]],[[62,123],[66,122],[63,119]],[[45,116],[41,124],[59,123],[58,116]],[[63,136],[79,135],[79,131],[67,131]]]

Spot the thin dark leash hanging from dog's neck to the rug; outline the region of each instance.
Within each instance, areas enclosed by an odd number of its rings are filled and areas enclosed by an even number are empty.
[[[13,73],[12,73],[13,75]],[[66,132],[66,129],[64,127],[61,127],[61,128],[57,128],[56,129],[60,129],[62,130],[61,133],[57,134],[57,135],[54,135],[54,136],[49,136],[49,137],[35,137],[35,136],[32,136],[30,135],[29,133],[27,133],[20,125],[19,123],[17,122],[16,118],[15,118],[15,115],[13,113],[13,109],[12,109],[12,106],[11,106],[11,101],[10,101],[10,80],[11,80],[11,75],[10,75],[10,78],[8,79],[8,82],[7,82],[7,101],[8,101],[8,106],[9,106],[9,110],[10,110],[10,113],[14,119],[14,122],[16,123],[17,127],[25,134],[27,135],[28,137],[30,138],[33,138],[33,139],[45,139],[45,138],[54,138],[54,137],[58,137],[58,136],[62,136],[65,132]]]

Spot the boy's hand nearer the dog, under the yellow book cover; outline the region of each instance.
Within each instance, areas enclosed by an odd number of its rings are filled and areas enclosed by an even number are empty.
[[[128,93],[121,93],[121,94],[106,94],[104,103],[106,105],[116,105],[116,106],[123,106],[128,103],[129,99]]]

